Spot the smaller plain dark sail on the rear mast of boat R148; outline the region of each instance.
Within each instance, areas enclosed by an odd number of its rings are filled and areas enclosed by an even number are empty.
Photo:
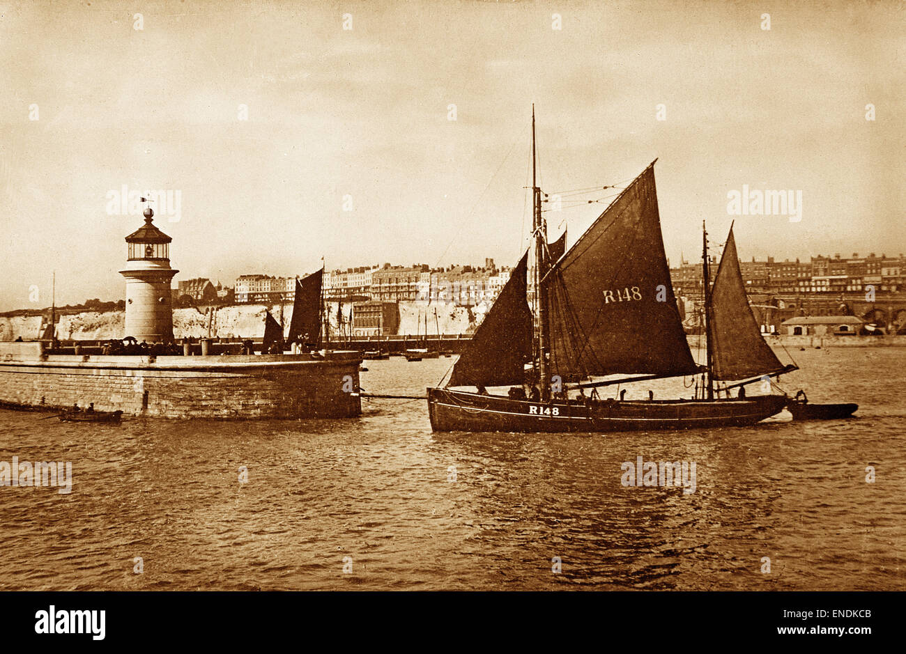
[[[785,369],[762,337],[748,305],[732,226],[711,289],[709,332],[715,380],[744,380]]]

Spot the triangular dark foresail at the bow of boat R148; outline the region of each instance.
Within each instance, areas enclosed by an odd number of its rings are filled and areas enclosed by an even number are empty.
[[[532,358],[532,313],[525,301],[528,253],[510,275],[453,367],[448,386],[504,386],[525,380]]]

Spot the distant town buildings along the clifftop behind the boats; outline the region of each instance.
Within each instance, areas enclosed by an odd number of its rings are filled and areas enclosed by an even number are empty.
[[[718,271],[718,260],[712,257],[711,274]],[[781,322],[800,316],[831,316],[858,312],[869,322],[896,322],[906,325],[906,311],[899,300],[890,303],[881,298],[906,295],[906,258],[903,255],[860,256],[818,255],[808,261],[740,261],[739,269],[746,284],[749,301],[759,321],[772,330]],[[304,271],[303,274],[310,274]],[[427,264],[409,266],[375,264],[345,270],[325,271],[323,299],[327,303],[344,303],[352,309],[352,333],[368,336],[393,333],[400,321],[400,302],[445,303],[463,307],[490,304],[509,281],[512,268],[497,267],[493,259],[482,266],[448,265],[431,268]],[[302,275],[300,275],[302,276]],[[701,302],[701,262],[681,261],[670,268],[673,289],[681,300],[687,322],[696,320],[695,306]],[[292,303],[296,277],[269,274],[243,274],[234,287],[206,278],[180,281],[173,290],[174,303],[180,306],[204,303]],[[713,281],[713,276],[712,276]],[[873,294],[872,294],[873,293]],[[878,306],[872,298],[881,296]],[[882,306],[884,302],[887,302]],[[864,314],[865,303],[871,304],[871,315]],[[843,324],[843,323],[841,323]],[[796,332],[820,332],[824,328],[810,324],[784,325]],[[834,327],[842,329],[840,325]],[[834,331],[834,330],[832,330]]]

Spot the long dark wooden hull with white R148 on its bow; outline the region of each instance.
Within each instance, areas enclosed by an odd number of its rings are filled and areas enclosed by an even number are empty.
[[[435,431],[607,432],[741,427],[779,413],[779,395],[746,399],[602,400],[532,402],[448,389],[428,390]]]

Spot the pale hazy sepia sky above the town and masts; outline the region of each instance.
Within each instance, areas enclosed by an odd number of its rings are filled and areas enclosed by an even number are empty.
[[[703,219],[744,260],[906,253],[900,1],[38,0],[0,3],[0,63],[0,310],[54,271],[57,303],[124,296],[123,186],[180,198],[176,281],[515,264],[533,103],[552,197],[658,159],[672,265]],[[744,185],[801,220],[732,215]],[[550,207],[572,244],[606,204]]]

